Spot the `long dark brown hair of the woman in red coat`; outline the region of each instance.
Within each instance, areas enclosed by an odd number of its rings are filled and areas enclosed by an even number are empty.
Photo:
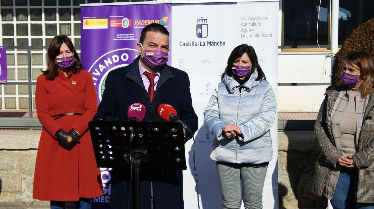
[[[74,53],[74,64],[67,71],[68,72],[71,71],[73,74],[77,74],[81,69],[83,69],[82,62],[80,61],[78,53],[74,49],[74,46],[71,40],[65,35],[55,36],[53,37],[48,47],[48,52],[47,52],[48,68],[46,71],[42,71],[48,80],[54,80],[55,77],[58,76],[58,66],[55,63],[55,58],[56,56],[59,55],[60,48],[63,43],[65,43],[70,49],[70,51]]]

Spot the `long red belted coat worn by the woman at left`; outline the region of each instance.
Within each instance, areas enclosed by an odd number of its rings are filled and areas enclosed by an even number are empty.
[[[75,84],[74,84],[75,83]],[[33,198],[38,200],[77,201],[103,194],[99,168],[96,166],[88,122],[97,111],[92,75],[81,70],[66,77],[60,70],[54,80],[37,78],[36,110],[43,125],[34,174]],[[62,113],[83,113],[53,120]],[[80,144],[72,150],[56,141],[59,129],[71,128],[80,134]]]

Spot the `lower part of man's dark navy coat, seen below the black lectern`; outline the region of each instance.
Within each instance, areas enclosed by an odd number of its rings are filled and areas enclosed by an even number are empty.
[[[151,209],[151,182],[153,184],[153,209],[183,209],[182,170],[141,170],[140,176],[141,209]],[[127,208],[130,170],[113,169],[109,205],[113,209]],[[133,208],[134,175],[129,208]]]

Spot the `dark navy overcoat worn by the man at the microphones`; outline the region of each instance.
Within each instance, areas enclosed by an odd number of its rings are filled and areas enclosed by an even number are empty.
[[[197,130],[197,116],[194,113],[187,73],[164,65],[151,102],[139,73],[139,59],[130,65],[111,71],[105,81],[105,90],[95,118],[107,120],[119,117],[127,121],[127,110],[131,104],[144,104],[146,113],[142,121],[162,122],[157,113],[160,104],[166,103],[177,110],[178,117],[192,132]],[[192,138],[187,133],[186,140]],[[127,207],[129,170],[113,169],[110,206]],[[134,179],[133,179],[134,181]],[[150,208],[150,182],[153,182],[154,209],[184,208],[183,179],[181,170],[142,170],[141,208]],[[133,193],[131,193],[133,194]],[[132,201],[131,201],[132,202]],[[131,207],[132,208],[132,207]]]

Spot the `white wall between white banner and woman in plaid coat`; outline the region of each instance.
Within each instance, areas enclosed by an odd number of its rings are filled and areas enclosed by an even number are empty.
[[[278,83],[329,83],[330,69],[323,52],[278,53]],[[278,112],[318,112],[327,86],[278,86]]]

